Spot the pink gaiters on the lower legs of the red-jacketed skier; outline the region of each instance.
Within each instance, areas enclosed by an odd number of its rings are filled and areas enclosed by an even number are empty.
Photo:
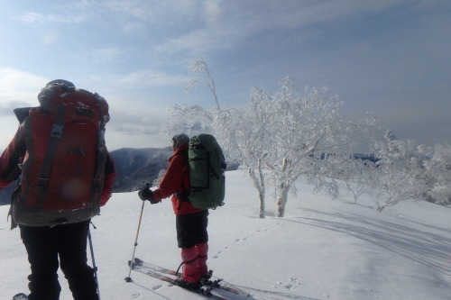
[[[207,275],[208,243],[197,244],[189,249],[181,250],[183,268],[181,279],[187,282],[198,282],[200,277]]]

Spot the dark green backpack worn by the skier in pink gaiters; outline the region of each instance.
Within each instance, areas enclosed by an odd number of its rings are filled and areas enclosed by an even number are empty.
[[[221,147],[211,134],[199,134],[189,140],[188,199],[199,209],[216,209],[224,205],[226,195],[226,161]]]

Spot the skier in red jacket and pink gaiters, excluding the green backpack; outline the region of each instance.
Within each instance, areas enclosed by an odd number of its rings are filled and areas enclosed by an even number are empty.
[[[202,286],[202,279],[208,279],[208,210],[194,207],[182,196],[189,191],[188,135],[177,134],[171,143],[173,155],[169,159],[170,165],[161,179],[160,186],[154,191],[146,186],[139,192],[139,197],[154,205],[172,195],[177,241],[181,248],[183,266],[177,285],[196,290]]]

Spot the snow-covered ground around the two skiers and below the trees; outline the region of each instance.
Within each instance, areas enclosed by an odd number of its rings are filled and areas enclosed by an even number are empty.
[[[216,277],[259,299],[451,299],[451,209],[405,201],[373,210],[369,199],[331,201],[299,181],[286,217],[259,219],[251,182],[227,172],[226,205],[209,217],[209,267]],[[270,198],[270,197],[269,197]],[[91,228],[102,299],[202,299],[177,286],[132,272],[142,202],[115,194]],[[19,231],[9,230],[9,205],[0,206],[0,299],[27,292],[29,265]],[[135,256],[166,268],[179,266],[170,201],[146,204]],[[60,275],[61,300],[72,299]],[[231,299],[241,299],[233,296]]]

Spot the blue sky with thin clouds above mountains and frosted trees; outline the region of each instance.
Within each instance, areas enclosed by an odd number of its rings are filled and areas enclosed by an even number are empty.
[[[0,149],[12,110],[55,78],[106,98],[110,150],[169,145],[171,105],[214,105],[206,86],[183,90],[199,58],[222,105],[288,75],[399,139],[451,144],[450,20],[448,0],[1,1]]]

